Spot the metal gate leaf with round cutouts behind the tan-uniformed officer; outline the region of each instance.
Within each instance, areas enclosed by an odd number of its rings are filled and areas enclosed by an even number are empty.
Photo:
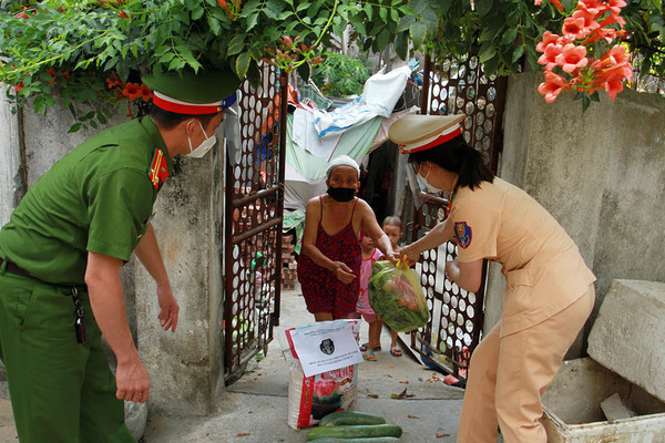
[[[488,78],[475,55],[460,59],[424,59],[420,109],[423,114],[463,113],[463,135],[478,150],[485,165],[497,173],[501,152],[501,123],[505,97],[504,78]],[[417,239],[444,217],[448,200],[430,198],[415,209],[411,238]],[[457,246],[446,243],[426,251],[417,265],[430,309],[430,321],[411,334],[411,348],[423,361],[467,379],[469,358],[482,334],[484,281],[478,292],[468,292],[444,277],[446,261],[457,257]]]

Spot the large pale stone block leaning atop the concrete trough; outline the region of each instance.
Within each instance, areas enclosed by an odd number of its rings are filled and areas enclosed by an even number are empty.
[[[665,284],[613,280],[589,337],[603,367],[665,401]]]

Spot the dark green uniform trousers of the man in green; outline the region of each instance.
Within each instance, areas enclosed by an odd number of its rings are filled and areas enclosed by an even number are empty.
[[[70,288],[0,269],[0,358],[21,443],[136,442],[88,293],[79,296],[85,344],[76,341]]]

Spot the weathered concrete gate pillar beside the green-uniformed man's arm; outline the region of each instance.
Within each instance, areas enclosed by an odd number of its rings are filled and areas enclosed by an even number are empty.
[[[181,305],[175,333],[157,321],[155,284],[136,266],[139,349],[151,377],[153,410],[176,415],[209,412],[222,377],[222,196],[218,150],[178,162],[153,219],[173,292]],[[216,220],[216,222],[214,222]]]

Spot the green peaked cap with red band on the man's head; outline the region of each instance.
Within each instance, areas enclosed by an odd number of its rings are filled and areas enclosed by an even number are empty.
[[[177,114],[214,114],[233,105],[241,79],[231,71],[153,72],[143,76],[153,103]]]

